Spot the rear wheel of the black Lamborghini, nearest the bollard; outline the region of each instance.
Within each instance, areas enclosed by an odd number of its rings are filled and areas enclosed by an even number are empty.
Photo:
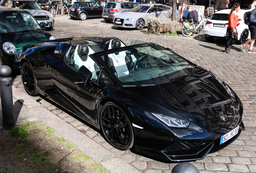
[[[23,86],[29,95],[39,95],[39,88],[37,87],[37,80],[35,78],[34,71],[27,62],[24,62],[21,66],[21,78]]]

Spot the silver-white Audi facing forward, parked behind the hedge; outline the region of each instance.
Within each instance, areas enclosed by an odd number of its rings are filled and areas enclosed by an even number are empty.
[[[142,30],[147,26],[147,16],[163,17],[171,16],[172,8],[162,4],[140,4],[129,12],[124,12],[114,18],[114,26],[123,28],[136,28]]]

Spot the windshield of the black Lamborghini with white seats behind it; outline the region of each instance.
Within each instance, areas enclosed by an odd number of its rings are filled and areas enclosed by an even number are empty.
[[[98,57],[121,86],[162,84],[194,70],[180,56],[152,43],[120,48]]]

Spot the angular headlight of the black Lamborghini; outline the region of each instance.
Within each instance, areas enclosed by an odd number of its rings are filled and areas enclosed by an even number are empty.
[[[161,115],[161,114],[155,114],[155,113],[151,113],[151,114],[153,114],[159,120],[163,121],[163,123],[165,123],[169,127],[187,128],[190,124],[190,121],[167,117],[167,116]]]

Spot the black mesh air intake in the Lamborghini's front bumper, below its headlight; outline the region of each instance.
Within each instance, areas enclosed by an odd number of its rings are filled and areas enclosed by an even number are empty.
[[[176,141],[169,147],[163,149],[162,151],[181,151],[181,150],[187,150],[192,149],[194,147],[198,147],[200,145],[205,144],[208,141]]]

